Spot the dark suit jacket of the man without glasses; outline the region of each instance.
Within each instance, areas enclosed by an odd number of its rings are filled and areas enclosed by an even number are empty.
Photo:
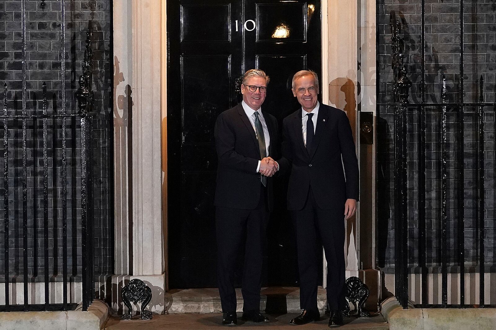
[[[344,111],[320,104],[310,153],[303,142],[301,108],[284,118],[283,132],[283,158],[279,166],[282,170],[291,167],[288,210],[304,207],[309,187],[324,210],[344,209],[348,198],[358,201],[358,161]]]

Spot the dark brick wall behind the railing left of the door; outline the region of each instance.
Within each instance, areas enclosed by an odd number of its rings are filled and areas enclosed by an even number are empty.
[[[62,109],[61,70],[61,2],[46,1],[44,10],[41,1],[26,1],[26,47],[27,47],[27,110],[41,113],[42,84],[47,84],[49,113]],[[0,0],[0,84],[7,83],[9,113],[20,113],[22,109],[22,33],[21,1]],[[95,275],[113,272],[113,142],[112,142],[112,2],[65,1],[65,48],[66,60],[66,110],[77,111],[75,91],[81,75],[81,61],[84,57],[88,20],[93,20],[93,89],[94,108],[100,111],[93,129],[93,172],[94,172],[94,234],[95,234]],[[1,93],[3,96],[3,93]],[[1,102],[1,101],[0,101]],[[0,139],[3,139],[3,124],[0,125]],[[10,275],[22,275],[22,130],[20,121],[9,121],[9,254]],[[29,275],[36,272],[43,277],[43,134],[42,121],[28,120],[28,232]],[[61,121],[48,122],[49,159],[49,246],[51,275],[62,271],[62,126]],[[67,207],[69,275],[80,275],[80,123],[67,120]],[[3,155],[3,147],[1,146]],[[1,166],[3,168],[3,157]],[[3,171],[0,182],[3,185]],[[1,194],[1,219],[3,214],[3,193]],[[3,247],[3,221],[0,224],[0,245]],[[75,237],[72,240],[72,237]],[[42,249],[42,250],[40,250]],[[38,251],[39,250],[39,251]],[[3,249],[1,249],[3,251]],[[3,252],[0,252],[0,274],[3,274]],[[72,273],[71,273],[72,272]],[[22,277],[21,277],[22,278]],[[40,280],[40,278],[35,278]]]

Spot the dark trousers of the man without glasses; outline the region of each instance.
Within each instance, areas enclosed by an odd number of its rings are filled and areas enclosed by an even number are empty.
[[[292,212],[298,249],[300,272],[300,308],[317,309],[317,282],[319,262],[317,255],[324,246],[327,260],[327,302],[331,310],[344,306],[344,205],[342,210],[322,210],[311,189],[302,210]]]

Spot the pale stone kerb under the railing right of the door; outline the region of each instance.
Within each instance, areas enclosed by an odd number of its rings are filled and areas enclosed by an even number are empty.
[[[394,297],[381,304],[390,330],[494,330],[496,308],[408,308]]]

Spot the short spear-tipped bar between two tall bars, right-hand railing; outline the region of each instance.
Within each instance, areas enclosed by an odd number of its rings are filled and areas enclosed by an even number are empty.
[[[446,77],[442,75],[441,103],[446,103]],[[447,271],[447,209],[446,209],[446,106],[442,106],[441,118],[441,299],[442,307],[448,307]]]

